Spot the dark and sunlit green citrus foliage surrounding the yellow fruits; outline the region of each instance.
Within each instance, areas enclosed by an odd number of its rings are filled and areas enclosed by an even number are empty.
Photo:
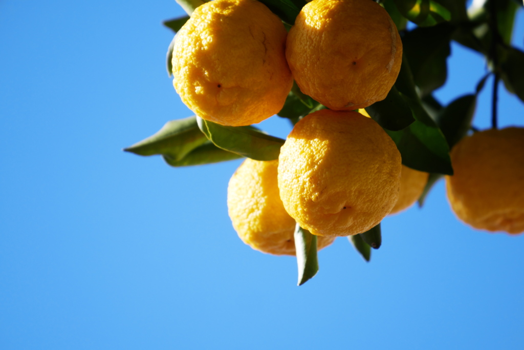
[[[175,33],[189,19],[201,0],[177,0],[188,16],[166,20]],[[280,17],[289,30],[304,0],[260,0]],[[466,8],[465,0],[379,0],[396,24],[403,44],[402,66],[394,87],[383,101],[366,108],[369,115],[391,136],[402,163],[430,176],[419,198],[422,206],[431,187],[443,175],[452,175],[450,150],[472,129],[478,93],[494,76],[493,127],[497,127],[499,82],[524,101],[524,52],[511,46],[515,14],[520,0],[487,0]],[[407,24],[414,23],[408,30]],[[483,55],[489,72],[479,72],[472,93],[441,105],[432,95],[447,79],[447,58],[455,41]],[[168,48],[167,70],[171,76],[174,39]],[[297,84],[278,113],[292,124],[325,108],[303,94]],[[223,162],[241,157],[259,161],[278,159],[285,140],[253,126],[223,126],[198,116],[168,121],[156,134],[125,149],[138,155],[161,155],[167,164],[189,166]],[[299,267],[299,285],[318,271],[316,237],[297,225],[294,234]],[[381,244],[380,224],[350,241],[366,261],[371,248]]]

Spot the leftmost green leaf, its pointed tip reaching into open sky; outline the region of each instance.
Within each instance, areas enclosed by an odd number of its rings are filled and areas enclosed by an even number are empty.
[[[167,122],[157,133],[127,147],[124,151],[143,156],[162,154],[174,161],[180,161],[207,141],[196,123],[196,117],[190,116]]]

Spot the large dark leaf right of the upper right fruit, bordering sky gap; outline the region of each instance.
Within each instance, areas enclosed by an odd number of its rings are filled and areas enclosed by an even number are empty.
[[[414,83],[422,95],[440,88],[447,78],[447,57],[454,27],[443,23],[433,27],[415,28],[402,38]]]

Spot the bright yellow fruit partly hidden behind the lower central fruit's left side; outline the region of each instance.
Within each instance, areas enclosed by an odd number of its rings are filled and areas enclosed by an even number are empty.
[[[282,205],[277,184],[278,160],[246,159],[231,177],[227,207],[238,237],[253,249],[276,255],[295,255],[296,222]],[[333,243],[319,237],[318,249]]]

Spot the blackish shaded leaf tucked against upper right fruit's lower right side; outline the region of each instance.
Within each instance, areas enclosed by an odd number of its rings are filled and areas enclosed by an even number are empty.
[[[401,130],[414,122],[409,104],[400,96],[397,88],[393,86],[388,96],[366,107],[366,112],[384,129]]]

